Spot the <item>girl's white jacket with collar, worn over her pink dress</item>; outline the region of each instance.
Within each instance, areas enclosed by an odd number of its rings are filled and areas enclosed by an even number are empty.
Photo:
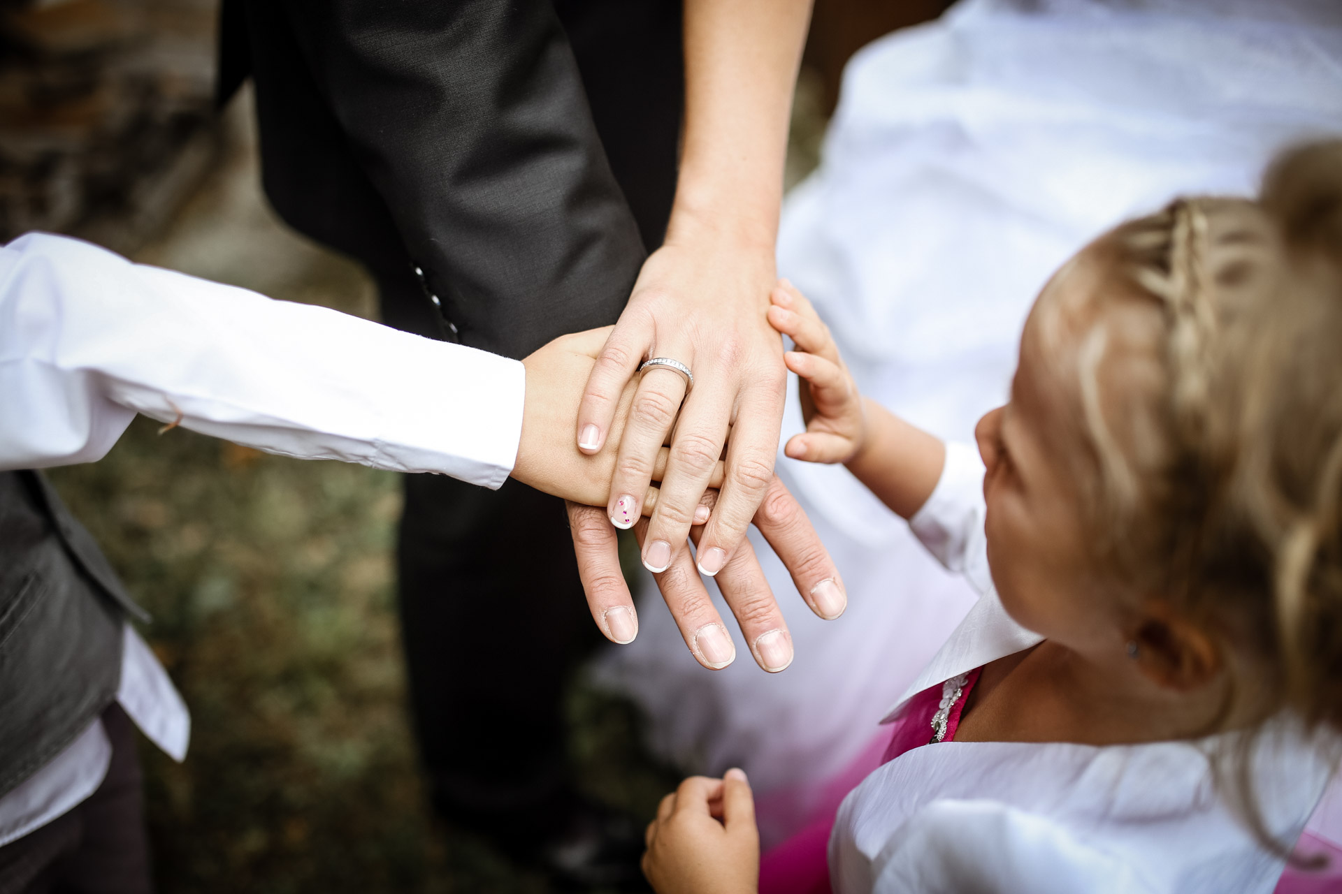
[[[923,689],[1040,641],[1007,615],[988,575],[982,465],[969,448],[947,450],[911,527],[981,596],[891,716]],[[833,890],[1267,894],[1283,860],[1220,797],[1204,751],[1213,744],[914,748],[839,808]],[[1280,721],[1266,730],[1252,768],[1267,828],[1294,842],[1327,784],[1327,763]]]

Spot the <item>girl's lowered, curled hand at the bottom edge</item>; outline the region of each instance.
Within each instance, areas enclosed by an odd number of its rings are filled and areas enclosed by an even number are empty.
[[[643,874],[658,894],[750,894],[760,886],[754,797],[739,769],[680,783],[662,799],[647,842]]]

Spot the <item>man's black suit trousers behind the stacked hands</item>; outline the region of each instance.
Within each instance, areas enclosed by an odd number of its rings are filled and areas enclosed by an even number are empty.
[[[560,0],[556,9],[611,168],[655,248],[675,190],[679,4]],[[388,315],[428,307],[412,276],[378,285]],[[544,811],[568,781],[565,682],[604,642],[562,501],[511,480],[491,492],[407,476],[397,572],[411,705],[435,804],[454,818]]]

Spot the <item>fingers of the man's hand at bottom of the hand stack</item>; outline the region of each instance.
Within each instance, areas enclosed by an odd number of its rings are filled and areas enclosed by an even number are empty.
[[[592,617],[609,639],[629,642],[637,634],[639,622],[633,598],[620,571],[615,528],[597,507],[576,503],[568,507],[578,576]],[[644,543],[646,525],[641,523],[636,531]],[[807,513],[776,477],[770,478],[754,525],[788,567],[811,610],[827,619],[843,614],[848,600],[839,570]],[[714,609],[688,554],[682,551],[666,571],[655,576],[680,635],[699,663],[714,670],[731,663],[737,654],[731,634]],[[749,540],[723,566],[717,583],[756,662],[772,673],[785,669],[792,662],[792,635]]]

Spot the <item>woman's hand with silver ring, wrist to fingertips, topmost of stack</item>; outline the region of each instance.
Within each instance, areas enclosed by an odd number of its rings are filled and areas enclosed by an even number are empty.
[[[667,357],[688,366],[688,394],[674,370],[650,367],[639,377],[607,512],[616,527],[632,525],[640,512],[621,509],[641,503],[659,449],[671,438],[643,546],[643,564],[666,571],[686,551],[695,507],[726,444],[726,478],[698,551],[699,571],[711,576],[743,543],[773,478],[786,367],[782,340],[765,315],[774,284],[772,243],[741,245],[680,220],[648,257],[597,357],[577,413],[578,446],[600,453],[613,441],[616,411],[644,359]]]

